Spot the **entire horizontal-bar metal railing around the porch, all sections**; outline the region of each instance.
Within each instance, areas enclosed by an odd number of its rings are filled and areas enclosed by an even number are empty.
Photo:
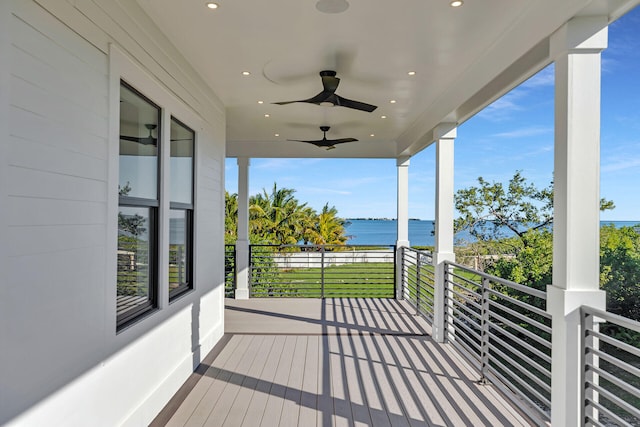
[[[235,288],[235,248],[227,245],[226,291]],[[388,297],[395,292],[393,246],[250,247],[252,297]],[[432,254],[402,248],[400,295],[433,322],[445,313],[445,339],[532,419],[550,422],[551,316],[546,292],[444,263],[445,302],[436,307]],[[640,425],[640,323],[581,308],[583,421]],[[525,401],[529,405],[522,405]]]

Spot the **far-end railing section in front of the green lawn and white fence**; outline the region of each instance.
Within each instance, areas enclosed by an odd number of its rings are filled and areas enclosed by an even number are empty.
[[[251,245],[251,297],[395,296],[394,246]]]

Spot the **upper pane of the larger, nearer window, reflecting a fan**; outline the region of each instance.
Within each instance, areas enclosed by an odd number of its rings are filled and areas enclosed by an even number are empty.
[[[158,198],[160,108],[120,85],[120,196]]]

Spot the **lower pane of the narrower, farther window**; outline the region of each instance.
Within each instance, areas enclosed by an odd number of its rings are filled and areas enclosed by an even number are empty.
[[[189,211],[171,209],[169,217],[169,292],[191,286]]]

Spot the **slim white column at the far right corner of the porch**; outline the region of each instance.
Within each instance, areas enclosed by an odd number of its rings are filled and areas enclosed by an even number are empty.
[[[402,292],[402,248],[409,247],[409,157],[396,160],[398,168],[398,200],[396,240],[396,299],[403,298]]]

